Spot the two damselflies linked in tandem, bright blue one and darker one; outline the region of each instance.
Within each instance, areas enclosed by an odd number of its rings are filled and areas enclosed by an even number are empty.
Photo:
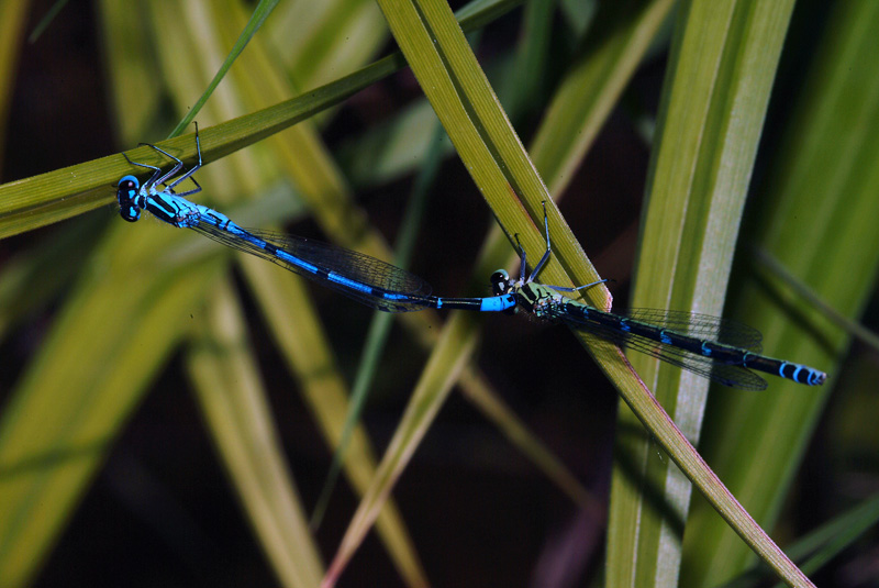
[[[572,329],[646,353],[664,362],[733,388],[761,390],[766,381],[752,369],[815,386],[826,375],[817,369],[761,355],[760,333],[750,326],[706,314],[633,309],[616,314],[590,307],[561,292],[588,288],[561,288],[536,282],[549,259],[549,225],[544,211],[546,252],[526,275],[524,249],[521,268],[513,280],[504,270],[491,276],[493,295],[485,298],[444,298],[431,295],[431,287],[404,269],[361,253],[310,238],[268,231],[244,229],[226,215],[190,202],[185,197],[201,191],[192,175],[201,167],[201,143],[196,125],[198,164],[183,170],[183,163],[168,152],[145,144],[174,160],[170,170],[125,159],[153,170],[143,184],[135,176],[119,180],[116,199],[120,214],[130,222],[146,210],[160,221],[180,229],[192,229],[229,247],[240,249],[322,286],[333,288],[374,309],[405,312],[426,308],[463,309],[480,312],[522,311],[543,320],[561,322]],[[124,155],[124,154],[123,154]],[[175,189],[187,178],[194,186]]]

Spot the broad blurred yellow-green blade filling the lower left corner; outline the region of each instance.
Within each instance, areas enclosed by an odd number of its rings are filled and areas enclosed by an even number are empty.
[[[124,249],[130,236],[111,232],[103,245],[119,255],[92,258],[3,410],[0,576],[9,586],[38,569],[221,267],[166,258],[147,277],[141,268],[162,247]]]

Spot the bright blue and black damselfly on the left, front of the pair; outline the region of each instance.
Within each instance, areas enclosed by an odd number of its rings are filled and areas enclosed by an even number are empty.
[[[120,214],[129,222],[137,221],[141,211],[145,210],[173,226],[191,229],[223,245],[272,262],[386,312],[425,308],[499,312],[515,306],[515,297],[512,295],[490,298],[431,296],[431,287],[420,277],[375,257],[296,235],[244,229],[221,212],[190,202],[185,197],[201,191],[201,186],[192,177],[202,163],[198,125],[196,147],[199,163],[189,170],[181,173],[183,163],[179,158],[155,145],[146,145],[174,160],[175,165],[169,171],[163,173],[158,167],[132,162],[125,155],[131,165],[153,170],[153,175],[143,185],[135,176],[125,176],[119,180],[116,200]],[[175,188],[187,178],[194,188],[178,193]]]

